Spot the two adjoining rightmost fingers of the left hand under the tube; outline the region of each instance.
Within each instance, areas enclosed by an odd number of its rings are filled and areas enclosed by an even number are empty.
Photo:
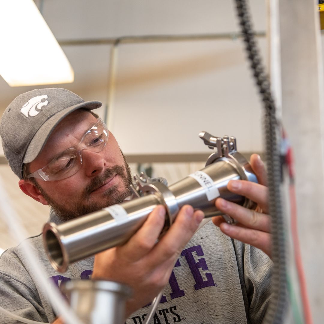
[[[162,263],[170,258],[173,260],[175,257],[178,257],[195,233],[203,217],[202,211],[194,212],[190,205],[183,206],[168,232],[149,254],[150,263]]]

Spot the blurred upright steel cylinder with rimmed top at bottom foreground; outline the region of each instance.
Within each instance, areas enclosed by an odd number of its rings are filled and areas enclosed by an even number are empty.
[[[123,324],[130,287],[104,280],[72,280],[60,289],[85,324]]]

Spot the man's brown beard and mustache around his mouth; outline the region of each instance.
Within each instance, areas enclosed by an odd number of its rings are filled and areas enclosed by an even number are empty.
[[[114,175],[121,177],[124,189],[120,189],[117,187],[117,185],[113,185],[102,193],[102,201],[100,203],[91,203],[91,192],[102,186],[107,179]],[[54,201],[49,195],[46,194],[46,192],[44,192],[42,188],[39,187],[39,190],[49,205],[53,208],[57,217],[65,222],[75,217],[89,214],[102,208],[123,202],[124,199],[131,194],[129,189],[131,184],[131,169],[125,161],[124,167],[113,166],[111,168],[107,168],[102,175],[91,179],[91,182],[86,186],[81,195],[81,200],[76,203],[71,202],[68,207]]]

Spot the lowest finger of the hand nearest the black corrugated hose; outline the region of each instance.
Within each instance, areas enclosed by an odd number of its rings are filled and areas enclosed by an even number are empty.
[[[229,225],[227,223],[221,223],[220,229],[224,234],[239,241],[255,246],[271,257],[270,233],[235,225]]]

